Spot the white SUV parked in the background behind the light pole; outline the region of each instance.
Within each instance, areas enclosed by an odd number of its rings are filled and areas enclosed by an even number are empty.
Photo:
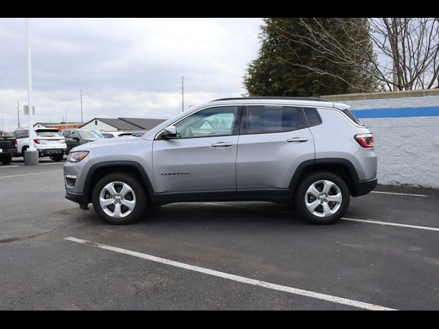
[[[25,150],[29,148],[29,129],[17,129],[10,132],[17,141],[17,153],[14,156],[25,156]],[[66,140],[56,128],[38,128],[32,130],[34,148],[38,156],[49,156],[54,161],[61,161],[67,151]]]

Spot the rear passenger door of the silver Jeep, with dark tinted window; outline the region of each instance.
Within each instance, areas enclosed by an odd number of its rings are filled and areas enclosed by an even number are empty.
[[[295,106],[248,105],[237,152],[237,190],[289,188],[298,165],[315,158],[303,110]]]

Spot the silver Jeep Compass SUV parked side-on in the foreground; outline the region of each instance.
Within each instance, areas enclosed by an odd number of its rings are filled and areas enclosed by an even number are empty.
[[[370,131],[348,106],[324,99],[216,99],[141,138],[71,150],[67,199],[112,224],[171,202],[294,202],[311,223],[340,219],[352,195],[377,185]]]

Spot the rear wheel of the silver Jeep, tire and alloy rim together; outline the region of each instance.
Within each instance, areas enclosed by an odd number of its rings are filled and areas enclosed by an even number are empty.
[[[296,208],[305,220],[313,224],[338,221],[348,209],[349,188],[338,175],[314,173],[302,181],[296,191]]]

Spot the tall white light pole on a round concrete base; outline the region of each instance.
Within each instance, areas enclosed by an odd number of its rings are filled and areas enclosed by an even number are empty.
[[[34,139],[32,132],[34,131],[34,126],[32,125],[32,56],[30,47],[30,32],[29,23],[26,19],[26,36],[27,36],[27,106],[29,109],[29,148],[23,154],[25,158],[25,164],[34,165],[38,164],[38,152],[34,147]]]

